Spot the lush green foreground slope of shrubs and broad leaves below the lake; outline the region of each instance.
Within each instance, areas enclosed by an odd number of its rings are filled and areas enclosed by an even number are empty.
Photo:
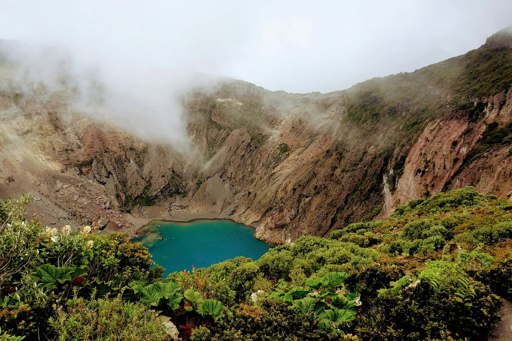
[[[476,341],[512,299],[512,200],[474,187],[165,279],[126,234],[48,228],[31,200],[0,201],[0,327],[27,339]]]

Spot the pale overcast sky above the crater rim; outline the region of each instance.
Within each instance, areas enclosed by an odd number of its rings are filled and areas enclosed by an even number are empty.
[[[198,71],[304,93],[478,48],[512,1],[0,0],[0,18],[0,38],[63,44],[119,80]]]

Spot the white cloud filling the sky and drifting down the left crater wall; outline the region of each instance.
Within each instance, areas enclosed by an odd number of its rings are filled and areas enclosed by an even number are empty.
[[[0,4],[0,39],[29,44],[11,49],[19,84],[59,89],[65,78],[78,110],[177,147],[187,144],[177,98],[197,73],[329,92],[465,53],[512,17],[507,0]]]

